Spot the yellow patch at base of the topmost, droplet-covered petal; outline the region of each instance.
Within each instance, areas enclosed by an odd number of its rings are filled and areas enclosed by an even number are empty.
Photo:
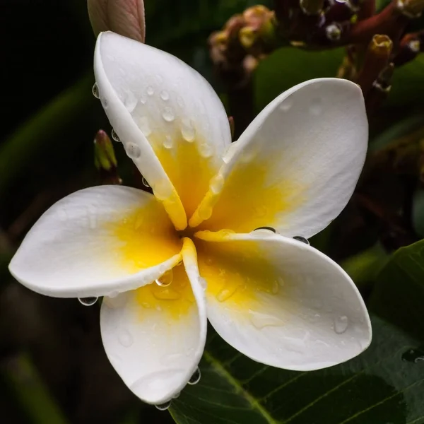
[[[175,136],[172,138],[171,148],[164,146],[164,143],[167,143],[166,134],[152,134],[149,140],[174,185],[187,216],[192,216],[208,191],[209,181],[217,171],[213,155],[201,155],[202,149],[205,151],[205,147],[202,147],[205,146],[205,141],[199,135],[190,142],[182,136]],[[208,146],[207,149],[212,147]]]

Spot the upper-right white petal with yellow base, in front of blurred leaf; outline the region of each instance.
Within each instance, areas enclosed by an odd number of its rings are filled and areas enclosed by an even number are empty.
[[[307,81],[273,100],[242,134],[190,220],[202,228],[249,232],[271,226],[310,237],[350,199],[367,151],[363,95],[350,81]],[[212,211],[212,206],[213,207]]]

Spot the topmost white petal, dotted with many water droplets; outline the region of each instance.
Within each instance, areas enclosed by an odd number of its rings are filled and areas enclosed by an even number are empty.
[[[98,37],[95,77],[110,123],[126,150],[140,153],[134,163],[155,194],[175,187],[190,216],[231,141],[216,93],[176,57],[114,33]]]

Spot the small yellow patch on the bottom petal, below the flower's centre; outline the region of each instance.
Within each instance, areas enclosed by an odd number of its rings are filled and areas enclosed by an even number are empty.
[[[192,286],[184,266],[175,266],[171,272],[172,283],[167,287],[160,287],[153,281],[136,290],[140,319],[146,319],[160,312],[175,320],[186,317],[196,307]]]

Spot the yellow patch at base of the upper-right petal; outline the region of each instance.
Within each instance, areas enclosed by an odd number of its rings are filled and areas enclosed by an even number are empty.
[[[270,170],[275,172],[275,164],[238,163],[225,178],[220,194],[206,194],[189,225],[199,225],[200,230],[228,228],[235,232],[250,232],[264,225],[272,227],[277,220],[281,225],[281,216],[305,201],[307,187],[285,177],[283,170],[283,177],[269,184]],[[207,219],[208,215],[211,218]]]

